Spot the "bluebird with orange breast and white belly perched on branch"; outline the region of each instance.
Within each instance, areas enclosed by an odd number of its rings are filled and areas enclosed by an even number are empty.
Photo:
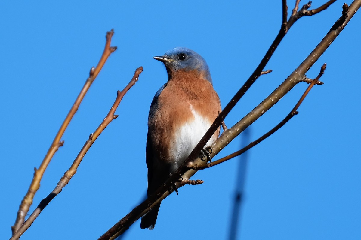
[[[154,96],[148,116],[146,160],[148,196],[186,160],[221,111],[205,60],[185,47],[154,59],[164,63],[168,81]],[[219,136],[220,128],[206,146]],[[152,230],[160,204],[142,217],[140,227]]]

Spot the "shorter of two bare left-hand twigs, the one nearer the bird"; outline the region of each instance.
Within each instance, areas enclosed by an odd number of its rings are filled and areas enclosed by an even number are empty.
[[[23,223],[23,225],[19,228],[17,232],[11,237],[10,239],[16,240],[19,239],[19,237],[31,226],[31,224],[35,221],[35,219],[39,216],[39,214],[42,212],[42,210],[53,200],[65,187],[71,177],[74,176],[74,174],[77,172],[77,168],[81,161],[83,160],[85,154],[90,149],[90,147],[93,145],[97,137],[100,135],[101,132],[108,126],[110,122],[113,121],[113,119],[116,119],[118,115],[114,115],[115,110],[117,109],[120,101],[122,100],[123,96],[127,93],[127,91],[135,84],[136,81],[138,81],[139,74],[142,73],[143,67],[139,67],[135,70],[134,76],[128,83],[128,85],[123,89],[123,91],[117,92],[117,98],[114,101],[114,104],[110,108],[108,114],[104,118],[103,122],[100,123],[99,127],[96,128],[96,130],[90,134],[89,139],[85,142],[83,148],[75,158],[73,164],[71,164],[68,171],[64,173],[64,176],[62,176],[56,185],[55,189],[42,201],[40,201],[38,207],[34,210],[34,212],[30,215],[28,219]]]

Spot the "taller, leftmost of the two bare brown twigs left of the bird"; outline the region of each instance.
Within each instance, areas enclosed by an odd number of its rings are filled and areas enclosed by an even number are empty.
[[[69,113],[66,116],[66,118],[64,119],[64,122],[61,124],[60,129],[56,133],[55,138],[54,138],[47,154],[45,155],[42,163],[40,164],[40,167],[38,169],[34,168],[34,170],[35,170],[34,177],[32,178],[32,181],[31,181],[29,189],[27,190],[27,193],[25,194],[23,200],[21,201],[19,210],[17,212],[17,217],[15,220],[14,226],[11,227],[12,234],[14,234],[19,229],[19,227],[22,225],[22,223],[25,221],[25,216],[26,216],[27,212],[29,212],[29,208],[32,204],[32,200],[34,199],[34,195],[40,187],[40,181],[43,177],[45,169],[48,167],[48,164],[49,164],[50,160],[52,159],[52,157],[54,156],[55,152],[64,143],[64,141],[60,142],[60,139],[63,136],[65,129],[68,127],[75,112],[77,112],[81,101],[83,100],[85,94],[87,93],[90,85],[93,83],[95,78],[98,76],[98,73],[100,72],[101,68],[103,67],[104,63],[106,62],[106,59],[108,59],[109,55],[117,49],[117,47],[110,46],[110,41],[112,40],[113,33],[114,33],[113,29],[106,33],[106,42],[105,42],[104,51],[103,51],[103,54],[101,55],[98,65],[96,66],[96,68],[94,68],[94,67],[91,68],[88,79],[86,80],[86,82],[85,82],[82,90],[80,91],[77,99],[75,100],[73,106],[69,110]]]

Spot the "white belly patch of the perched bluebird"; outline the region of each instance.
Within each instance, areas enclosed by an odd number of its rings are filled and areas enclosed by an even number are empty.
[[[197,143],[204,136],[208,128],[213,122],[210,122],[207,118],[202,117],[196,110],[190,106],[193,119],[184,123],[179,127],[171,141],[170,156],[173,158],[174,164],[170,172],[173,173],[177,168],[186,160],[189,154],[192,152]],[[212,136],[205,146],[211,145],[217,136]]]

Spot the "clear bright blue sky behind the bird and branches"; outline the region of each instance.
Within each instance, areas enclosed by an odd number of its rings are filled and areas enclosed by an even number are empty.
[[[307,1],[301,1],[305,4]],[[324,1],[313,1],[317,8]],[[344,2],[297,21],[267,69],[236,105],[232,126],[268,96],[313,50],[340,17]],[[351,4],[351,1],[347,2]],[[294,1],[288,1],[289,13]],[[68,186],[22,239],[97,239],[143,199],[145,140],[153,95],[166,80],[152,59],[185,46],[202,55],[225,106],[277,35],[281,1],[38,1],[0,4],[3,86],[0,238],[10,237],[18,205],[58,128],[114,28],[110,56],[85,96],[34,198],[47,196],[113,104],[117,90],[143,66],[113,121],[93,144]],[[327,69],[299,114],[251,149],[239,239],[360,239],[360,13],[312,67]],[[292,109],[300,83],[251,127],[251,139]],[[216,157],[240,147],[238,137]],[[199,171],[201,186],[185,186],[162,202],[153,231],[136,222],[124,239],[226,239],[238,159]]]

